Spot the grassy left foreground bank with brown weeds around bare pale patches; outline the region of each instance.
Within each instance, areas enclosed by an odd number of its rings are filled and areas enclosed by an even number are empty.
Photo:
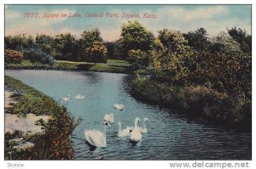
[[[4,137],[5,160],[67,160],[73,157],[70,134],[73,131],[73,118],[54,99],[44,93],[26,86],[22,82],[5,76],[5,87],[15,92],[12,99],[17,101],[5,110],[6,113],[18,116],[26,116],[29,113],[35,115],[49,115],[50,120],[43,124],[44,134],[26,136],[22,132],[15,131],[13,134],[7,132]],[[34,147],[29,151],[13,152],[13,145],[9,143],[12,138],[26,138],[32,142]]]

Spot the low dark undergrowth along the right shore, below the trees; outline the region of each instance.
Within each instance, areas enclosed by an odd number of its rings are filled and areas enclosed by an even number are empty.
[[[137,78],[132,93],[139,99],[160,104],[200,121],[250,130],[252,104],[242,96],[220,93],[210,87],[179,87]]]

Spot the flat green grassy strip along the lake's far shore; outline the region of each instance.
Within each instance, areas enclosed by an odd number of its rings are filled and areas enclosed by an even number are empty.
[[[87,62],[74,62],[66,60],[56,60],[55,65],[44,65],[38,62],[32,63],[30,60],[23,60],[20,64],[5,64],[5,69],[27,69],[27,70],[85,70],[112,73],[141,73],[147,74],[147,70],[133,70],[125,60],[108,59],[106,64],[94,64]]]

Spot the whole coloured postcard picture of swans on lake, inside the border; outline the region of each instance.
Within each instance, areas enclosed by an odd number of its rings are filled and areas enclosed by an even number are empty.
[[[5,161],[252,160],[250,4],[5,4],[4,74]]]

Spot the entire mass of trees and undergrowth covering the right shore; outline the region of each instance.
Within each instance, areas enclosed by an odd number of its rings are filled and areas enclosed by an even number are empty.
[[[250,38],[236,28],[211,40],[204,29],[188,34],[161,30],[150,52],[151,76],[137,78],[132,90],[143,99],[189,115],[250,129]]]

